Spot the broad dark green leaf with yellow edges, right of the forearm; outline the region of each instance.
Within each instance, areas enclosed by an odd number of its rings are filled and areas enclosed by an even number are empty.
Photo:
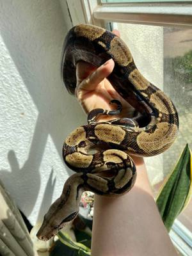
[[[191,152],[187,144],[156,200],[157,207],[168,231],[170,231],[175,218],[186,207],[191,198],[191,180]]]

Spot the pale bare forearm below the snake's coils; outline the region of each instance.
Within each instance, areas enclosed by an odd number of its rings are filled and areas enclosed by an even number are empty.
[[[120,197],[95,195],[92,256],[177,255],[152,196],[143,159],[132,190]]]

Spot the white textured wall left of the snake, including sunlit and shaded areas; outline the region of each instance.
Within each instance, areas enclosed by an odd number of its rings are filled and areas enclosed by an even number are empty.
[[[63,140],[86,116],[60,77],[65,0],[0,0],[0,179],[32,224],[71,173]],[[1,203],[0,203],[1,207]]]

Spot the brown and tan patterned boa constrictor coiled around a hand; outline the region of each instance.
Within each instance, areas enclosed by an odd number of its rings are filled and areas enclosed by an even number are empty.
[[[136,180],[136,167],[129,154],[155,156],[172,145],[177,136],[177,110],[161,90],[143,77],[127,45],[106,29],[80,24],[68,32],[63,46],[61,74],[69,93],[76,89],[76,63],[86,61],[99,67],[113,58],[115,68],[108,80],[138,115],[111,122],[96,122],[99,114],[117,115],[121,111],[93,109],[88,125],[78,127],[65,140],[63,159],[76,173],[68,178],[63,192],[45,214],[39,239],[54,236],[79,211],[83,191],[119,196],[129,191]],[[97,148],[95,154],[89,152]]]

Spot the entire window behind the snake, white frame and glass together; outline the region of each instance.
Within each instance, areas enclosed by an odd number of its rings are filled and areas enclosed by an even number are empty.
[[[118,29],[141,73],[175,103],[180,117],[177,140],[164,154],[146,160],[156,193],[186,143],[192,148],[192,1],[84,0],[77,7],[67,3],[74,25]],[[170,232],[181,255],[192,255],[191,212],[192,202]]]

